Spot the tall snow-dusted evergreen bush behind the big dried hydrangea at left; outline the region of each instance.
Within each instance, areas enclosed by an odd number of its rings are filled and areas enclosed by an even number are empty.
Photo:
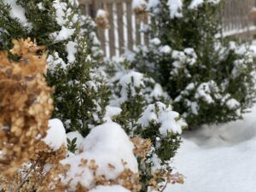
[[[49,51],[54,117],[67,130],[85,136],[103,122],[108,93],[96,69],[102,50],[94,22],[79,14],[76,1],[0,1],[0,26],[0,49],[9,50],[10,39],[31,37]]]

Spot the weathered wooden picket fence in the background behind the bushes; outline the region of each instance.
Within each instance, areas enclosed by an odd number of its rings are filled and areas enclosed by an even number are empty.
[[[97,34],[107,56],[120,55],[125,49],[134,50],[139,44],[148,44],[147,34],[141,32],[148,20],[139,20],[131,8],[132,0],[79,0],[84,15],[96,17],[98,9],[109,14],[109,28],[98,27]],[[249,12],[256,0],[224,0],[223,29],[225,36],[252,39],[256,26]]]

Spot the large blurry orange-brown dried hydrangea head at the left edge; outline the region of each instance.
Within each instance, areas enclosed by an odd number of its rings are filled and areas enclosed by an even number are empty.
[[[44,80],[44,47],[30,38],[13,44],[10,52],[20,61],[10,61],[7,53],[0,52],[0,172],[8,176],[34,158],[53,110],[52,89]]]

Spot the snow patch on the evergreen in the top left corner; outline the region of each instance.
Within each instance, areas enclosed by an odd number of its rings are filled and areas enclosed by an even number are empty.
[[[26,20],[25,9],[16,3],[16,0],[3,0],[3,3],[10,5],[10,16],[17,19],[22,26],[28,26]]]

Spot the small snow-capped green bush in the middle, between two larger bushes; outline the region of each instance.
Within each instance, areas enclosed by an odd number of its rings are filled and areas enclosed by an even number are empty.
[[[165,182],[175,179],[182,183],[179,175],[174,179],[170,160],[186,123],[172,111],[170,98],[154,79],[131,69],[131,63],[124,58],[107,63],[108,86],[112,90],[109,106],[117,112],[112,120],[123,125],[135,143],[141,191],[162,189]]]

